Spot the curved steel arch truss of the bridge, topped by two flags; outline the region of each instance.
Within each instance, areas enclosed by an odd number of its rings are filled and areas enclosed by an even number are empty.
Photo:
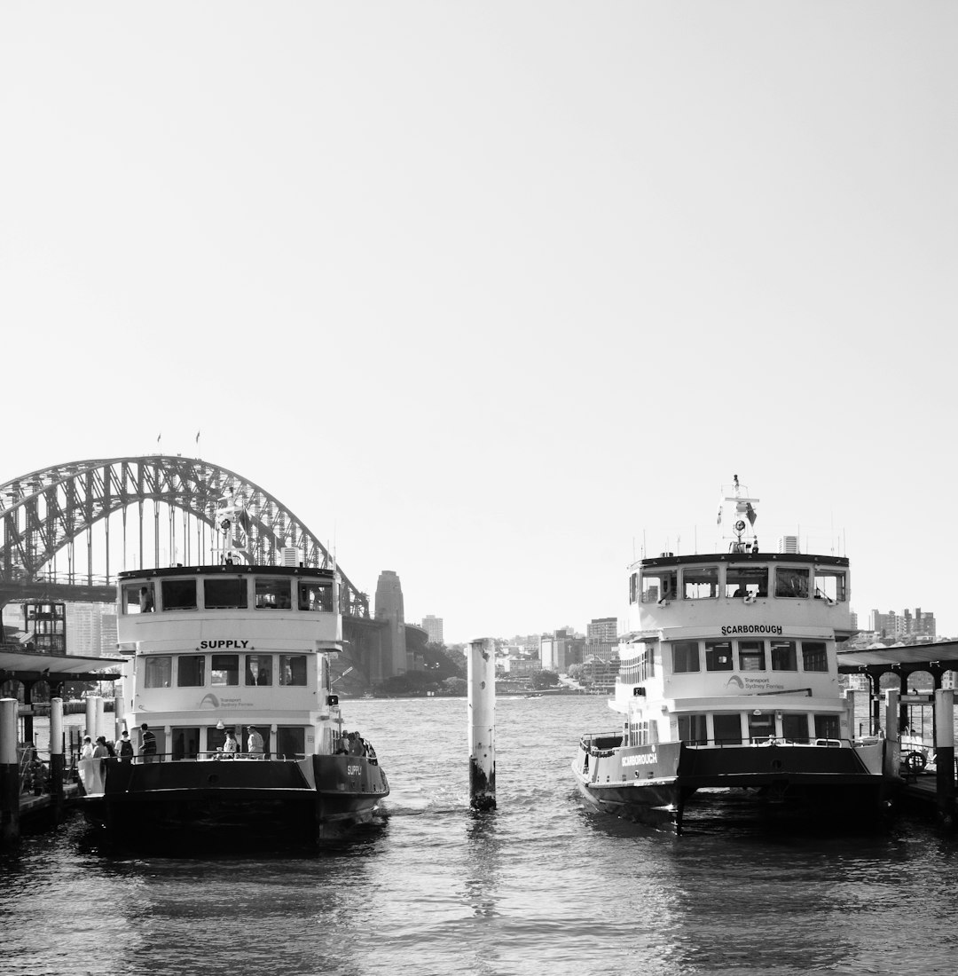
[[[69,549],[87,535],[87,573],[75,574],[70,567],[70,584],[89,590],[94,586],[93,528],[102,523],[105,546],[105,575],[110,579],[109,516],[122,511],[124,532],[128,509],[136,506],[140,553],[143,551],[143,503],[152,501],[151,520],[154,551],[159,550],[159,520],[156,504],[179,508],[200,523],[219,531],[216,508],[220,497],[232,489],[234,497],[250,517],[248,549],[259,564],[281,561],[281,550],[294,546],[306,566],[329,567],[333,557],[303,522],[259,485],[228,468],[198,458],[147,455],[133,458],[74,461],[33,471],[0,485],[0,518],[3,539],[0,547],[0,586],[24,590],[43,583],[49,567],[61,549]],[[172,523],[172,519],[171,519]],[[342,612],[369,618],[369,597],[357,590],[339,571]],[[79,597],[83,599],[84,597]]]

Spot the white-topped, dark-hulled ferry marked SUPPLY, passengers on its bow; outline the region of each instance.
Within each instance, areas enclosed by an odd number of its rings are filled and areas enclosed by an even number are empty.
[[[140,839],[314,840],[370,821],[389,787],[333,692],[335,569],[245,562],[231,495],[217,524],[217,564],[119,574],[117,708],[136,749],[104,760],[88,817]]]

